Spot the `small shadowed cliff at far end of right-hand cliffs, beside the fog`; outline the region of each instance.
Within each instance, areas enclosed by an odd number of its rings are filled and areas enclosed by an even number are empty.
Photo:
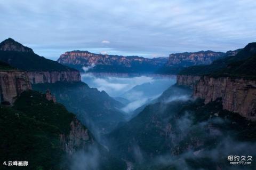
[[[178,75],[177,85],[193,88],[199,79],[200,79],[200,76]]]

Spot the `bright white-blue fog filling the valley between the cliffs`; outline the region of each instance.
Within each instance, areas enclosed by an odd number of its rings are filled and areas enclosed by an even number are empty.
[[[88,68],[84,68],[85,71]],[[175,84],[173,76],[133,76],[117,77],[94,75],[86,72],[82,80],[90,87],[107,92],[111,97],[124,104],[121,108],[126,114],[160,96],[167,88]]]

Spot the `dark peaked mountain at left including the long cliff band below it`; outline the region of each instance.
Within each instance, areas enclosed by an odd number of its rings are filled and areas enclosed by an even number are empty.
[[[81,80],[77,70],[45,59],[43,56],[35,54],[31,48],[23,46],[11,38],[0,43],[0,61],[10,64],[11,67],[27,71],[30,82],[33,84]]]

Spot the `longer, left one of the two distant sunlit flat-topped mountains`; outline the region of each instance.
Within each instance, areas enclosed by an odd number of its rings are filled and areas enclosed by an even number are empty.
[[[153,73],[162,67],[167,58],[147,59],[141,56],[121,56],[94,54],[88,51],[71,51],[60,55],[57,60],[66,66],[84,71],[83,67],[92,67],[91,72]]]

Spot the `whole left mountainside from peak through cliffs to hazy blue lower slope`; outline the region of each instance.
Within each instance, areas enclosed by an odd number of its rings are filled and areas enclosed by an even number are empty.
[[[0,67],[5,69],[0,71],[1,102],[12,104],[32,86],[42,93],[50,89],[57,101],[92,131],[106,133],[124,121],[119,110],[123,104],[81,82],[79,71],[45,59],[11,38],[1,43],[0,49]]]

